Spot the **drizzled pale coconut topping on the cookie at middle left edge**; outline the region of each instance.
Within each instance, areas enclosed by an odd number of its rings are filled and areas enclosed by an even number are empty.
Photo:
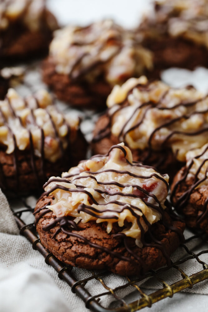
[[[58,112],[46,90],[23,99],[9,89],[0,101],[0,143],[7,154],[32,145],[35,156],[55,162],[75,141],[78,128],[79,119]]]

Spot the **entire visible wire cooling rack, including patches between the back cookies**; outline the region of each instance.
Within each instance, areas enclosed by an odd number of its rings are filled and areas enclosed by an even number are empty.
[[[41,81],[41,72],[39,62],[33,63],[25,68],[25,75],[22,82],[14,81],[12,86],[23,96],[34,93],[40,88],[46,88],[46,85]],[[87,140],[91,139],[92,130],[94,127],[94,121],[96,120],[96,114],[92,114],[91,111],[77,111],[69,108],[63,102],[57,101],[56,104],[58,108],[62,111],[70,112],[70,114],[78,114],[82,117],[83,122],[81,124],[81,129],[85,134]],[[31,243],[33,249],[38,250],[42,256],[45,258],[45,261],[48,265],[52,266],[58,273],[58,277],[64,280],[71,288],[71,291],[78,295],[85,303],[86,307],[92,311],[96,312],[124,312],[124,311],[137,311],[145,307],[151,307],[152,304],[156,303],[159,300],[163,300],[167,297],[172,297],[175,293],[185,290],[187,288],[194,287],[195,284],[202,282],[203,280],[208,279],[208,265],[200,260],[200,256],[203,254],[208,254],[208,238],[202,233],[192,234],[186,241],[181,244],[183,250],[183,257],[172,263],[170,267],[163,267],[155,271],[148,272],[143,278],[132,279],[128,276],[124,278],[122,285],[116,287],[110,287],[109,283],[106,282],[107,277],[114,278],[114,275],[109,272],[93,272],[88,271],[87,278],[77,278],[75,269],[71,266],[66,266],[64,263],[60,262],[55,256],[48,252],[45,247],[41,244],[34,223],[27,224],[26,221],[23,221],[24,214],[31,214],[34,211],[34,207],[31,207],[27,204],[27,198],[18,197],[17,198],[23,207],[20,210],[17,209],[17,205],[14,207],[14,216],[17,222],[17,225],[20,229],[20,234],[24,235]],[[200,248],[197,251],[193,251],[192,248],[188,247],[191,242],[197,240],[197,246]],[[196,244],[195,244],[196,245]],[[195,249],[194,249],[195,250]],[[207,257],[208,259],[208,257]],[[187,275],[181,266],[186,264],[188,261],[197,261],[197,272],[192,275]],[[174,279],[174,282],[167,280],[163,277],[163,273],[168,272],[170,276],[177,276]],[[81,274],[80,274],[81,275]],[[112,275],[112,276],[111,276]],[[166,275],[167,276],[167,275]],[[150,292],[146,288],[142,287],[141,283],[147,278],[150,281],[156,280],[158,284],[157,291]],[[96,288],[97,283],[101,283],[103,286],[103,292],[99,294],[91,294],[88,288],[88,284],[93,283],[94,288]],[[153,285],[150,283],[150,285]],[[121,296],[122,290],[127,290],[128,287],[131,287],[131,292],[135,290],[137,292],[137,300],[129,302],[126,300],[126,297]],[[151,287],[153,288],[153,287]],[[158,289],[157,288],[157,289]],[[152,291],[152,290],[151,290]],[[130,293],[130,292],[129,292]],[[107,300],[111,297],[111,300]],[[103,299],[103,300],[102,300]],[[113,305],[109,304],[104,306],[104,302],[112,302]]]

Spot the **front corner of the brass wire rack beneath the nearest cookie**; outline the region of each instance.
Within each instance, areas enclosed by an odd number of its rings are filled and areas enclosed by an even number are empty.
[[[45,247],[41,244],[40,239],[38,238],[38,234],[36,233],[36,228],[34,223],[26,224],[22,220],[22,216],[24,213],[33,213],[34,208],[27,204],[26,198],[18,197],[18,200],[22,202],[22,207],[18,211],[13,211],[15,220],[20,229],[20,234],[25,236],[31,243],[31,247],[35,250],[38,250],[41,255],[45,258],[45,262],[52,266],[56,272],[58,273],[58,277],[64,280],[71,288],[71,291],[78,295],[85,303],[85,306],[95,312],[124,312],[124,311],[137,311],[141,310],[145,307],[151,307],[152,304],[156,303],[159,300],[163,300],[167,297],[172,297],[175,293],[184,290],[186,288],[192,288],[195,284],[202,282],[203,280],[208,279],[208,265],[201,261],[199,256],[202,254],[208,254],[207,244],[208,237],[203,233],[195,233],[186,241],[181,244],[182,249],[185,251],[185,256],[182,259],[172,262],[170,267],[163,267],[155,271],[150,271],[143,278],[132,279],[128,276],[125,277],[125,283],[119,285],[115,288],[110,288],[106,285],[104,281],[104,277],[106,275],[112,275],[110,272],[93,272],[89,271],[89,276],[85,279],[76,279],[73,274],[74,268],[72,266],[66,266],[64,263],[59,261],[55,256],[53,256],[49,251],[45,249]],[[200,251],[193,252],[193,250],[189,249],[187,246],[191,241],[197,241],[197,246],[200,246]],[[188,276],[180,267],[186,261],[197,261],[201,267],[201,270],[198,272]],[[76,268],[76,270],[79,270]],[[173,271],[171,271],[173,270]],[[166,280],[163,280],[161,277],[162,272],[171,271],[170,274],[175,274],[176,271],[178,275],[178,279],[176,282],[169,284]],[[141,283],[142,280],[147,278],[154,278],[161,284],[161,288],[152,293],[147,293],[143,287],[138,284]],[[92,283],[99,282],[104,287],[104,291],[102,293],[91,295],[87,290],[87,283],[89,281]],[[138,299],[133,302],[127,302],[122,297],[118,295],[119,290],[125,290],[127,287],[131,286],[138,293]],[[95,286],[96,287],[96,286]],[[133,290],[132,290],[133,291]],[[103,296],[111,296],[113,297],[113,307],[104,307],[103,303],[101,304]],[[107,298],[105,297],[105,298]]]

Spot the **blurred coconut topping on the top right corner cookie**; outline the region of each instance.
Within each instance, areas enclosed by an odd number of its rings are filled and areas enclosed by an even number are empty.
[[[208,47],[207,0],[155,1],[155,9],[141,25],[147,37],[169,34]]]

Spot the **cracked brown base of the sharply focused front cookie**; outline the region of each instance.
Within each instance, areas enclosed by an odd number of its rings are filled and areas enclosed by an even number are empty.
[[[42,197],[37,202],[35,211],[52,201],[52,196]],[[121,228],[114,226],[112,232],[108,234],[104,222],[100,224],[93,221],[85,224],[79,222],[78,230],[69,229],[69,231],[81,235],[91,243],[108,248],[111,252],[117,252],[119,255],[128,257],[131,261],[124,261],[103,249],[90,246],[86,241],[75,236],[69,236],[62,231],[58,232],[53,238],[53,234],[59,228],[58,224],[47,231],[44,231],[43,227],[55,220],[56,216],[52,211],[47,212],[45,215],[42,215],[42,217],[39,216],[40,213],[43,213],[43,210],[36,213],[36,220],[40,218],[36,224],[36,229],[40,235],[41,243],[60,261],[63,261],[66,264],[88,270],[105,269],[120,275],[139,275],[150,269],[164,266],[167,263],[166,257],[160,249],[155,246],[143,246],[142,248],[139,248],[134,244],[133,239],[128,238],[128,247],[142,259],[142,265],[138,259],[133,257],[126,250],[123,239],[113,236],[113,234],[121,231]],[[172,221],[167,213],[164,214],[164,217],[169,225],[176,227],[177,231],[182,234],[184,230],[183,222]],[[154,235],[155,239],[161,241],[168,256],[170,256],[179,246],[179,235],[173,230],[166,229],[159,222],[152,225],[152,235]],[[152,244],[151,238],[147,237],[147,241]]]

